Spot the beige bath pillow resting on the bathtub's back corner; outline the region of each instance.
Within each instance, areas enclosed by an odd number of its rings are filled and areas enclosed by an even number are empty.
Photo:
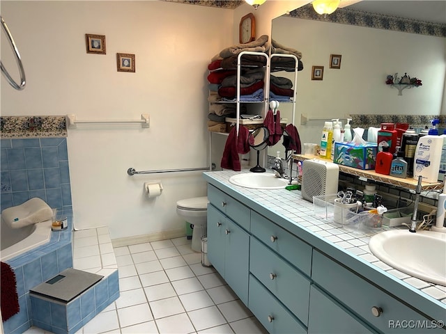
[[[23,228],[26,225],[47,221],[52,216],[51,207],[38,197],[31,198],[15,207],[8,207],[1,212],[1,219],[10,228]]]

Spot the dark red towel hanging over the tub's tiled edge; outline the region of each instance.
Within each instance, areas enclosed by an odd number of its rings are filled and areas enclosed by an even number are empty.
[[[3,322],[20,311],[19,296],[17,296],[17,284],[15,273],[10,265],[0,262],[0,307]]]

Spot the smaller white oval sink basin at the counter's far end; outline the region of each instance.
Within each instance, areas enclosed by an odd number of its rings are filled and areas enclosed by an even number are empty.
[[[229,177],[229,182],[236,186],[253,189],[284,189],[288,180],[275,177],[272,173],[244,173]]]

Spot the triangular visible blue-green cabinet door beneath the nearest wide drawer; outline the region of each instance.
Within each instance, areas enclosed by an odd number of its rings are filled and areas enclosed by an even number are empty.
[[[310,288],[308,333],[375,333],[318,288]]]

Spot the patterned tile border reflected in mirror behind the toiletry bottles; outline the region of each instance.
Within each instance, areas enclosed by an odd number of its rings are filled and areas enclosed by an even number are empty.
[[[352,127],[378,127],[381,123],[409,123],[411,127],[430,127],[431,120],[439,119],[440,125],[445,124],[444,115],[351,115]]]

